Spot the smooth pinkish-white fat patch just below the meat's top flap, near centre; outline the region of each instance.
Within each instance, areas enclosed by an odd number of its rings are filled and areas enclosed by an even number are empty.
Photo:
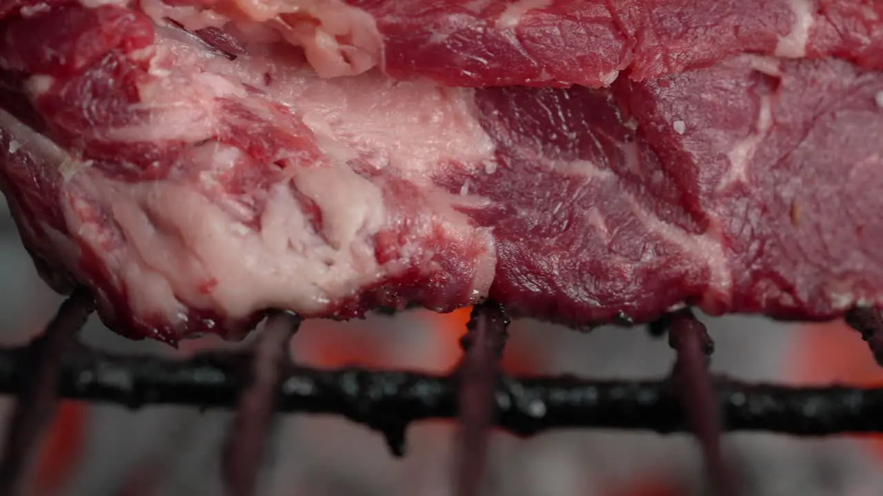
[[[474,90],[387,82],[375,74],[317,81],[306,93],[280,99],[291,98],[332,162],[361,154],[374,168],[397,169],[421,188],[433,187],[434,173],[452,162],[494,173],[496,145],[481,127]]]

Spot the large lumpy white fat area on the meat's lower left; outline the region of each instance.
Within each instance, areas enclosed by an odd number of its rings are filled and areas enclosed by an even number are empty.
[[[223,308],[232,319],[267,307],[321,312],[395,269],[394,264],[379,267],[374,259],[371,236],[384,215],[380,192],[359,177],[329,182],[336,172],[311,178],[313,173],[305,171],[301,178],[325,188],[323,221],[336,246],[313,231],[289,184],[268,192],[260,229],[252,229],[231,222],[223,207],[192,186],[120,184],[94,175],[88,177],[89,196],[111,208],[127,243],[108,252],[101,243],[106,226],[72,227],[125,284],[140,288],[130,293],[133,308],[162,309],[173,322],[177,298]],[[73,216],[72,222],[79,219]],[[149,290],[142,290],[145,279]],[[208,294],[195,283],[211,280],[217,283]]]

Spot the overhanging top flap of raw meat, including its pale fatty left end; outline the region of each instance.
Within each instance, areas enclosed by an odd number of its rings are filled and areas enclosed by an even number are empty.
[[[19,0],[25,1],[25,0]],[[55,0],[59,1],[59,0]],[[117,3],[125,3],[118,1]],[[141,0],[191,30],[238,26],[304,47],[320,76],[380,67],[447,86],[609,86],[755,53],[883,68],[867,0]],[[260,26],[256,26],[260,24]]]

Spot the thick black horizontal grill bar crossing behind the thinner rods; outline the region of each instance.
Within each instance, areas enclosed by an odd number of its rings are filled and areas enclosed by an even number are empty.
[[[26,348],[0,349],[0,394],[26,388]],[[65,358],[58,387],[74,400],[140,408],[155,404],[233,409],[238,364],[230,353],[189,360],[117,356],[78,348]],[[381,432],[412,421],[457,417],[457,379],[419,372],[361,368],[317,370],[287,366],[277,409],[347,417]],[[883,432],[883,388],[784,387],[714,379],[727,431],[804,436]],[[571,376],[502,378],[494,424],[518,435],[559,428],[689,432],[675,387],[668,380],[581,380]]]

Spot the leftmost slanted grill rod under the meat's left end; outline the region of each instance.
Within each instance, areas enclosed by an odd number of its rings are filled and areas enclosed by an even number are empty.
[[[76,289],[20,357],[19,398],[0,458],[0,494],[4,496],[26,493],[40,441],[57,408],[64,355],[77,345],[79,332],[92,312],[94,299],[86,289]]]

